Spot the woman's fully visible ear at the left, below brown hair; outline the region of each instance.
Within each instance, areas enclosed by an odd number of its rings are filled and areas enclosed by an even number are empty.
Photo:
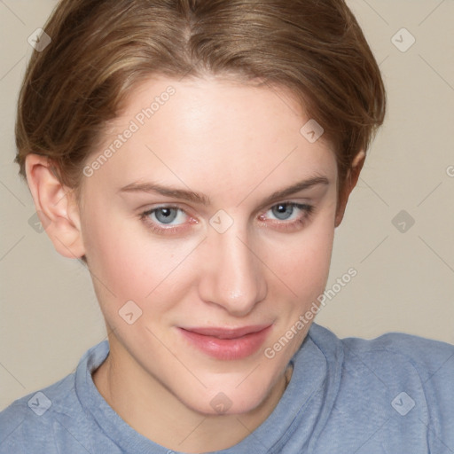
[[[36,213],[53,246],[65,257],[82,257],[85,249],[75,192],[60,183],[46,156],[28,154],[25,167]]]

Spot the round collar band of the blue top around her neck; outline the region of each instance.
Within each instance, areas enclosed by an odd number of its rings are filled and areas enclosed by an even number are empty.
[[[337,340],[333,333],[321,326],[312,324],[308,336],[301,344],[301,348],[294,353],[291,359],[293,364],[291,380],[270,416],[241,442],[231,448],[216,452],[219,454],[247,452],[253,446],[256,448],[257,440],[266,440],[266,446],[263,446],[266,452],[278,452],[279,442],[291,436],[292,428],[294,429],[294,427],[298,426],[299,420],[303,417],[302,413],[304,413],[305,407],[310,401],[314,401],[314,395],[317,393],[326,395],[323,387],[327,386],[327,382],[330,381],[327,380],[328,375],[331,373],[328,368],[330,364],[333,368],[333,362],[336,362],[336,352],[333,351],[335,342],[333,345],[333,340]],[[97,422],[99,429],[113,440],[125,454],[142,452],[167,454],[168,448],[149,440],[130,427],[98,392],[91,373],[104,362],[108,353],[108,341],[103,340],[90,348],[82,356],[77,366],[75,393],[82,408]],[[339,381],[340,378],[331,377],[332,382],[333,380]],[[333,386],[333,383],[330,386]],[[332,405],[332,402],[319,399],[317,403],[312,403],[312,407],[315,408],[312,408],[311,412],[322,412],[322,407],[326,410],[326,407],[330,405]],[[308,419],[306,425],[312,425],[312,429],[314,429],[317,421],[319,421],[319,418]],[[309,437],[313,430],[310,430],[310,427],[307,428],[309,430],[299,434],[299,437],[301,439],[307,437],[308,440],[306,442],[309,442]]]

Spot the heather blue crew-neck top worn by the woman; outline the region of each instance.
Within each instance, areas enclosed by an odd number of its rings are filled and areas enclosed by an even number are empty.
[[[170,454],[138,434],[91,379],[109,351],[90,348],[65,379],[0,413],[0,454]],[[338,339],[319,325],[268,419],[223,454],[452,454],[454,346],[406,334]]]

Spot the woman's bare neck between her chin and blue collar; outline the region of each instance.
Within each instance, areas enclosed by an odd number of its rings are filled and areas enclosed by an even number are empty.
[[[111,348],[106,361],[92,374],[99,393],[139,434],[169,450],[188,453],[224,450],[245,439],[270,416],[293,372],[289,366],[253,411],[206,415],[186,407],[130,356],[119,362],[113,353]]]

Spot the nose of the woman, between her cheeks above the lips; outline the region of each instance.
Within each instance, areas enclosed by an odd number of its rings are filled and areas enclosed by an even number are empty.
[[[234,317],[245,317],[265,298],[264,265],[254,246],[234,226],[224,233],[209,232],[200,278],[203,301],[223,307]]]

